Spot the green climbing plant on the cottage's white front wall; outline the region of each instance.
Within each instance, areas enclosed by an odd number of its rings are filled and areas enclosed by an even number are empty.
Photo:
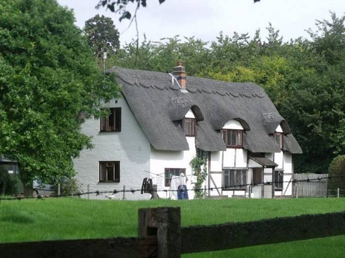
[[[207,177],[207,159],[206,155],[198,150],[196,155],[190,161],[193,175],[196,177],[196,183],[194,186],[195,198],[200,199],[203,197],[202,183]]]

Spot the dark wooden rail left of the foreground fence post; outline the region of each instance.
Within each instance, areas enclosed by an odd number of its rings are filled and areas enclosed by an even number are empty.
[[[99,229],[101,230],[101,228]],[[157,250],[157,237],[80,239],[0,244],[0,257],[149,257]]]

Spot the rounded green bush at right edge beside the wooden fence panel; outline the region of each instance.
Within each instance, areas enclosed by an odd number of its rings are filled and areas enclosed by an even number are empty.
[[[335,157],[329,165],[328,175],[333,179],[328,180],[328,189],[345,189],[345,155]]]

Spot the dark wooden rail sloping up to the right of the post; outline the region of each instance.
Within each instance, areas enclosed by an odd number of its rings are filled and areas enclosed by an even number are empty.
[[[181,228],[181,253],[345,235],[345,212]]]

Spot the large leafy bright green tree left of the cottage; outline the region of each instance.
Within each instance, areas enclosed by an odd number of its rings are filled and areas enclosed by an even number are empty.
[[[0,156],[19,162],[25,185],[71,177],[91,146],[81,123],[104,115],[118,87],[55,0],[2,1],[0,13]]]

